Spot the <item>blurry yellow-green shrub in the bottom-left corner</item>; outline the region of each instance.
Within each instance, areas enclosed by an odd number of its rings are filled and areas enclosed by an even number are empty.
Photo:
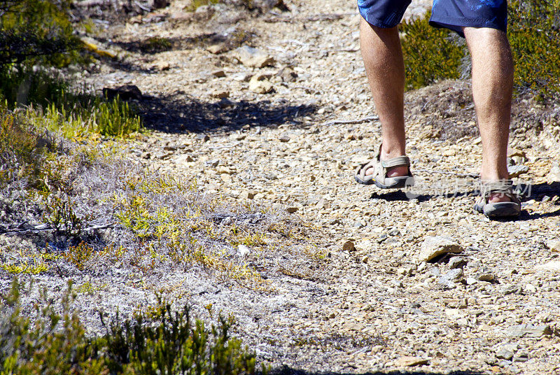
[[[97,348],[85,337],[76,314],[70,313],[69,293],[62,301],[62,316],[52,304],[36,304],[31,320],[22,316],[19,290],[14,281],[10,294],[0,300],[1,375],[104,374],[106,365]]]

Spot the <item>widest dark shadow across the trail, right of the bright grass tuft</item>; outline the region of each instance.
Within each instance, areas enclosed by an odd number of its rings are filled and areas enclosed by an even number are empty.
[[[181,93],[169,99],[146,97],[139,109],[146,128],[176,134],[232,132],[241,127],[274,127],[286,123],[301,126],[298,119],[314,113],[317,107],[268,100],[221,99],[209,103]]]

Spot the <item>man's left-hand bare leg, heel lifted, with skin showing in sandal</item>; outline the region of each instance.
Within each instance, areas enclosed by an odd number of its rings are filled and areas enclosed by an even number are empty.
[[[405,64],[402,61],[398,28],[383,29],[362,19],[360,48],[375,108],[381,121],[381,159],[405,155]],[[366,171],[365,174],[372,174],[372,170]],[[407,174],[407,167],[395,167],[388,171],[387,176]]]

